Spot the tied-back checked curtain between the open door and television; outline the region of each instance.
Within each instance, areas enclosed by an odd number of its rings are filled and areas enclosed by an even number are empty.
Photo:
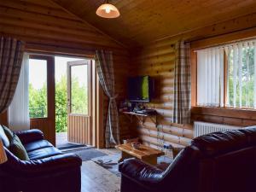
[[[96,50],[96,70],[100,84],[108,96],[108,115],[105,131],[106,148],[119,144],[119,114],[114,93],[113,56],[111,51]]]

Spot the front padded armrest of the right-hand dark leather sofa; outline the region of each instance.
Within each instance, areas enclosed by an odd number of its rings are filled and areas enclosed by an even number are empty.
[[[119,164],[119,172],[137,183],[151,185],[159,183],[163,178],[163,171],[156,166],[143,163],[141,160],[129,159]]]

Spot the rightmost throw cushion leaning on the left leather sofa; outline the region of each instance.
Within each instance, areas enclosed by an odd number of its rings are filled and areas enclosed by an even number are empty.
[[[26,149],[24,148],[23,144],[20,142],[19,137],[16,136],[15,134],[10,142],[9,150],[13,154],[15,154],[20,160],[29,160],[29,157],[26,154]]]

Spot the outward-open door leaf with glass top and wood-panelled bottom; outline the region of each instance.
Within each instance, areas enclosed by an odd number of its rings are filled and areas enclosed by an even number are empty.
[[[70,143],[92,144],[91,61],[67,62],[67,139]]]

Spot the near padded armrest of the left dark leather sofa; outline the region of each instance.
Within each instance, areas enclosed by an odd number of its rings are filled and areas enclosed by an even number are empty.
[[[41,160],[8,160],[9,172],[16,176],[42,176],[67,172],[71,168],[80,167],[82,160],[76,154],[59,154]]]

